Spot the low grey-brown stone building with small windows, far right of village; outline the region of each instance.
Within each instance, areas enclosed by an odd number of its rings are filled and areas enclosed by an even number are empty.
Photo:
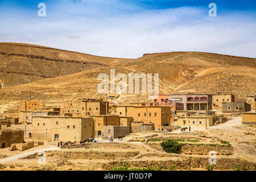
[[[238,111],[247,112],[251,110],[251,105],[246,102],[225,102],[222,104],[222,111],[235,113]]]

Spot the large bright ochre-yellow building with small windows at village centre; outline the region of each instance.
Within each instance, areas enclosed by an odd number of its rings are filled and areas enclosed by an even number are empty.
[[[142,121],[145,124],[154,123],[154,129],[158,130],[162,125],[171,123],[170,106],[117,106],[119,116],[133,117],[134,121]]]

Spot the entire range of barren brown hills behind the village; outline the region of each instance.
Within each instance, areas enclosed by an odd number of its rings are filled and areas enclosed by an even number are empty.
[[[221,92],[246,97],[256,90],[256,59],[248,57],[166,52],[145,54],[138,59],[115,59],[10,43],[0,44],[0,52],[0,79],[5,83],[0,90],[2,104],[34,99],[100,98],[104,95],[97,92],[97,77],[100,73],[109,75],[110,68],[115,68],[115,75],[159,73],[161,94]],[[128,94],[123,98],[146,99],[147,94]]]

